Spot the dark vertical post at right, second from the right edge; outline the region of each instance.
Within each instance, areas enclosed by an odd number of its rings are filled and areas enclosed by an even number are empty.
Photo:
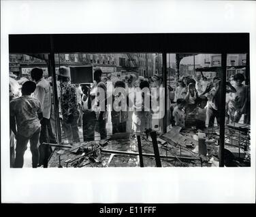
[[[221,108],[225,109],[226,100],[226,74],[227,74],[227,53],[221,53]],[[224,147],[225,147],[225,112],[218,108],[220,117],[220,136],[219,136],[219,167],[224,167]]]

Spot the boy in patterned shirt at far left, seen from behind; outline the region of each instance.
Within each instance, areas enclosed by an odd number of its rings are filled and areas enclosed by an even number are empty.
[[[42,119],[43,114],[39,100],[31,97],[35,88],[33,81],[26,81],[21,88],[22,96],[10,102],[10,125],[17,140],[14,163],[16,168],[23,167],[28,142],[32,153],[32,167],[36,168],[39,161],[38,142],[41,131],[39,119]]]

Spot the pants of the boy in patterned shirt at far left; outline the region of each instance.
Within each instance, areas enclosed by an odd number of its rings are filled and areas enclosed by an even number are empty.
[[[27,143],[30,142],[30,151],[32,154],[32,167],[36,168],[39,160],[39,151],[38,151],[38,141],[40,135],[39,129],[29,138],[24,136],[17,135],[16,136],[16,158],[14,162],[14,167],[22,168],[24,163],[24,154],[27,150]]]

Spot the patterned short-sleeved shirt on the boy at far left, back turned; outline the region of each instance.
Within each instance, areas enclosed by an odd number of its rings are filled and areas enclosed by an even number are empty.
[[[36,98],[20,96],[10,102],[10,116],[16,118],[18,135],[29,138],[41,127],[37,113],[42,113],[42,108]]]

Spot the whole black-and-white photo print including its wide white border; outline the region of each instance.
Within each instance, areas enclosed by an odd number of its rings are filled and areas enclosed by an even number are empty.
[[[254,203],[255,3],[96,2],[1,2],[5,201]]]

